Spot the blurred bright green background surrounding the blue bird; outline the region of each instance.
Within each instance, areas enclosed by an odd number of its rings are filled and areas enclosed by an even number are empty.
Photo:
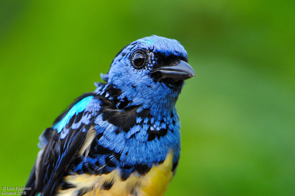
[[[1,1],[0,186],[25,184],[38,136],[141,37],[177,39],[196,77],[177,108],[166,195],[295,195],[294,1]]]

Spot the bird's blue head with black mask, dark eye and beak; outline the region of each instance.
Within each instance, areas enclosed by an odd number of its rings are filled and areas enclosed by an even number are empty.
[[[126,97],[135,104],[160,102],[159,99],[176,102],[183,80],[193,76],[183,46],[177,40],[155,35],[124,47],[109,72],[101,74],[104,81],[122,91],[119,98]]]

